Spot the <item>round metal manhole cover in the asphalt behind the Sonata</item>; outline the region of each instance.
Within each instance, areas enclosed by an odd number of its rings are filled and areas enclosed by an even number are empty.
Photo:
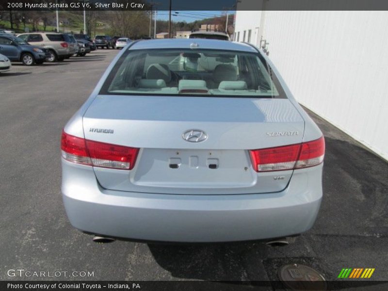
[[[291,290],[327,289],[323,276],[306,265],[285,265],[279,270],[279,278]]]

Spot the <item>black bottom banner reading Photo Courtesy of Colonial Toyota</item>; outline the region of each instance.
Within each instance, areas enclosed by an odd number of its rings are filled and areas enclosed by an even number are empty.
[[[386,291],[388,281],[339,280],[287,282],[294,290],[361,290]],[[1,291],[257,291],[286,289],[281,281],[1,281]]]

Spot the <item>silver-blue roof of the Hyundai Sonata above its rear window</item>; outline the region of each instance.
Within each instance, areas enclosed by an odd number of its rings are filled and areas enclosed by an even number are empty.
[[[170,38],[137,41],[129,49],[190,49],[191,44],[198,49],[224,49],[246,52],[258,52],[254,47],[240,42],[204,39],[204,38]],[[194,50],[194,49],[193,49]]]

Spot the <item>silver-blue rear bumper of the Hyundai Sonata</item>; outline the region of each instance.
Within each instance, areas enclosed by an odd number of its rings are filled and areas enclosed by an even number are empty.
[[[103,189],[88,166],[62,160],[70,223],[100,235],[151,241],[230,242],[307,231],[322,199],[322,167],[295,171],[271,194],[179,195]]]

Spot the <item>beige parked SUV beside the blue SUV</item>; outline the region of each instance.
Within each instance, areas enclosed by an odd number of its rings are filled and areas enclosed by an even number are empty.
[[[70,37],[57,32],[22,33],[19,38],[38,47],[49,49],[50,56],[47,62],[63,61],[78,52],[77,42],[71,42]]]

